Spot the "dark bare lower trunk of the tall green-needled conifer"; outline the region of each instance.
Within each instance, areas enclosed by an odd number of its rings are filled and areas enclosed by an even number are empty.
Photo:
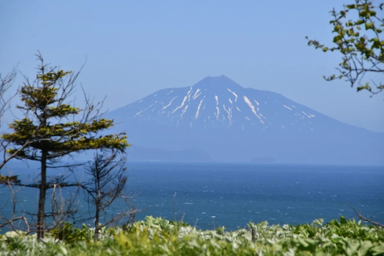
[[[39,206],[37,212],[37,239],[44,238],[45,229],[45,192],[46,192],[46,161],[48,152],[41,150],[41,184],[39,195]]]

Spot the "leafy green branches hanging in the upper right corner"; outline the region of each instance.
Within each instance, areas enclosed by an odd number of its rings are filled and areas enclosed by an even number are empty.
[[[355,0],[344,5],[343,10],[333,9],[329,21],[333,26],[333,46],[306,37],[309,46],[341,54],[341,62],[336,68],[339,74],[324,76],[327,81],[345,79],[351,86],[357,85],[357,91],[366,90],[372,95],[384,89],[381,81],[364,77],[367,73],[384,74],[383,7],[384,2]]]

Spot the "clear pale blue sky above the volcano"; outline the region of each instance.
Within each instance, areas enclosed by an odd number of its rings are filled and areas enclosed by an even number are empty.
[[[306,45],[306,35],[330,43],[328,11],[349,2],[2,0],[0,73],[18,64],[33,77],[36,50],[63,69],[78,70],[87,56],[78,81],[96,99],[107,96],[110,110],[225,74],[384,132],[384,93],[324,81],[339,58]]]

